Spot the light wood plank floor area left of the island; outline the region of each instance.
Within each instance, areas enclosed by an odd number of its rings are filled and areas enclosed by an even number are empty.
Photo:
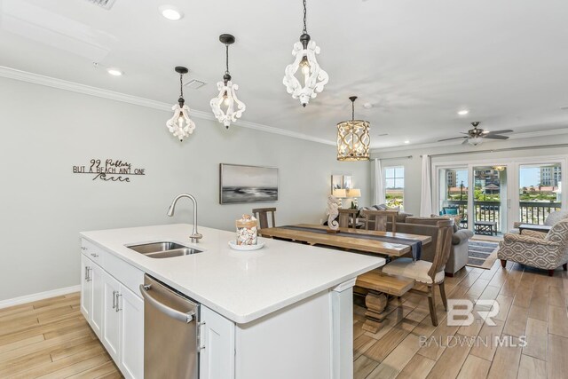
[[[79,294],[0,309],[0,378],[120,378]]]

